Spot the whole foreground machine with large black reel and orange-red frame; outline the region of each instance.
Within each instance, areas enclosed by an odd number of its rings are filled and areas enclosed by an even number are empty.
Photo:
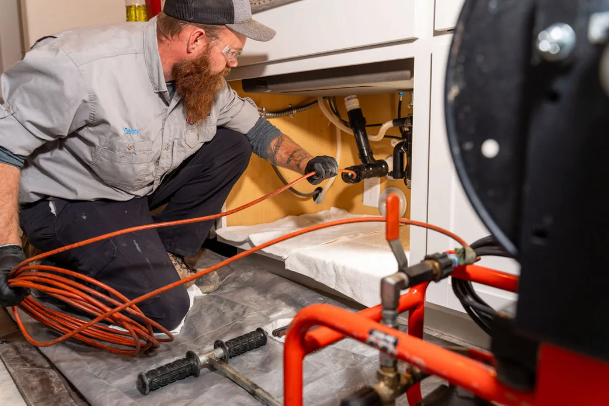
[[[284,355],[287,406],[303,404],[303,358],[344,337],[380,357],[378,384],[343,406],[392,405],[404,393],[410,406],[609,405],[609,273],[597,260],[609,245],[608,15],[607,1],[465,1],[446,74],[446,128],[463,189],[493,235],[409,265],[390,197],[387,240],[399,271],[383,279],[380,306],[297,314]],[[474,265],[485,255],[516,259],[521,276]],[[490,335],[490,352],[422,340],[426,287],[448,277]],[[471,282],[518,293],[517,306],[492,309]],[[407,334],[395,328],[401,312]],[[431,375],[450,385],[421,399],[419,383]]]

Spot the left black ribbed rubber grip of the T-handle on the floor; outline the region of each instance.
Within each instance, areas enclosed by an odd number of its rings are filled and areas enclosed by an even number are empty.
[[[140,393],[149,394],[150,391],[184,379],[191,375],[199,376],[201,372],[201,362],[199,355],[192,351],[186,352],[186,358],[175,360],[155,369],[150,369],[146,373],[138,375],[137,387]]]

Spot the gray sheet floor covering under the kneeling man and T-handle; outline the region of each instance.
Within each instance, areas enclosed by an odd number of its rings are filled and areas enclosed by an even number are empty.
[[[213,253],[202,256],[201,267],[222,258]],[[209,351],[214,340],[228,339],[252,331],[270,321],[293,317],[303,307],[315,303],[339,303],[256,267],[248,259],[220,271],[222,287],[198,298],[186,318],[183,331],[172,343],[165,343],[152,354],[119,357],[98,349],[69,342],[42,348],[43,354],[65,375],[91,405],[258,405],[234,383],[216,373],[204,371],[199,378],[188,378],[161,388],[148,396],[135,388],[140,371],[184,356],[186,351]],[[345,306],[341,306],[345,307]],[[26,326],[38,340],[55,337],[40,324]],[[426,340],[445,344],[431,335]],[[231,360],[244,373],[278,399],[283,399],[283,345],[269,341],[264,348]],[[340,399],[365,384],[375,383],[378,352],[347,339],[305,359],[305,404],[337,405]],[[438,385],[434,377],[423,382],[428,393]],[[3,392],[3,391],[2,391]],[[2,404],[6,404],[2,401]],[[398,402],[407,405],[405,397]]]

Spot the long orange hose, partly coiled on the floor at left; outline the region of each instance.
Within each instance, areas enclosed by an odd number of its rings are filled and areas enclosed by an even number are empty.
[[[350,171],[340,169],[339,172],[349,173]],[[58,248],[57,250],[49,251],[47,253],[39,254],[37,256],[27,259],[26,261],[21,262],[21,264],[17,265],[9,273],[8,284],[11,288],[40,290],[41,292],[44,292],[54,297],[55,299],[63,301],[64,303],[76,307],[77,309],[83,310],[84,312],[90,313],[92,316],[94,316],[94,318],[91,321],[82,320],[72,315],[54,309],[49,309],[48,307],[33,299],[31,296],[27,296],[27,298],[24,299],[18,306],[12,307],[13,315],[15,315],[15,320],[19,326],[19,329],[21,329],[21,332],[23,332],[24,337],[26,337],[26,339],[30,343],[36,346],[51,346],[61,341],[65,341],[68,338],[74,338],[88,345],[104,349],[105,351],[113,352],[114,354],[136,355],[140,352],[145,352],[150,348],[158,348],[161,342],[169,342],[174,339],[174,336],[171,334],[171,332],[169,332],[165,327],[146,317],[144,313],[138,309],[136,304],[140,303],[141,301],[152,298],[153,296],[166,292],[167,290],[173,289],[174,287],[177,287],[181,284],[186,284],[190,281],[193,281],[194,279],[200,278],[206,273],[222,268],[225,265],[238,261],[239,259],[245,256],[263,250],[264,248],[269,247],[270,245],[282,242],[293,237],[300,236],[302,234],[311,233],[311,231],[348,223],[385,222],[384,217],[356,217],[352,219],[336,220],[334,222],[314,225],[305,229],[301,229],[295,231],[294,233],[289,233],[285,236],[270,240],[269,242],[258,245],[257,247],[251,248],[250,250],[243,251],[242,253],[230,257],[225,261],[214,265],[213,267],[209,267],[206,270],[202,270],[198,273],[195,273],[194,275],[189,276],[188,278],[181,279],[180,281],[174,282],[160,289],[153,290],[152,292],[146,293],[146,295],[139,296],[138,298],[132,300],[129,300],[120,292],[117,292],[116,290],[103,284],[102,282],[96,281],[95,279],[89,278],[85,275],[80,275],[77,272],[65,270],[58,267],[49,267],[44,265],[28,265],[30,262],[33,261],[37,261],[39,259],[43,259],[45,257],[52,256],[63,251],[71,250],[72,248],[82,247],[83,245],[108,239],[121,234],[141,231],[143,229],[161,228],[173,225],[189,224],[218,219],[219,217],[224,217],[226,215],[230,215],[243,209],[246,209],[250,206],[256,205],[256,203],[259,203],[263,200],[280,194],[281,192],[286,191],[289,187],[292,187],[298,182],[303,181],[314,175],[315,172],[308,173],[303,177],[298,178],[294,182],[287,184],[284,187],[281,187],[281,189],[278,189],[275,192],[272,192],[264,197],[253,200],[250,203],[247,203],[246,205],[224,213],[208,215],[205,217],[198,217],[195,219],[186,219],[175,222],[157,223],[127,228],[115,231],[114,233],[108,233],[99,237],[84,240],[79,243],[66,245],[65,247]],[[452,234],[450,231],[439,228],[437,226],[408,219],[400,219],[400,223],[433,229],[435,231],[438,231],[438,233],[445,234],[446,236],[449,236],[460,244],[466,246],[465,241]],[[80,279],[80,281],[82,282],[73,281],[72,279],[68,279],[62,275]],[[108,292],[113,297],[98,292],[97,290],[92,289],[86,286],[85,284],[94,285],[98,289],[102,290],[102,292]],[[102,301],[104,303],[102,303]],[[114,307],[107,306],[107,304],[105,303],[110,303]],[[19,307],[19,309],[23,310],[24,313],[26,313],[33,319],[39,321],[47,327],[50,327],[51,329],[54,329],[62,335],[60,337],[55,338],[54,340],[46,342],[34,340],[24,327],[23,321],[19,316],[17,307]],[[141,322],[138,323],[138,321],[133,320],[133,318],[127,317],[126,315],[119,313],[123,311],[129,313],[132,317],[141,320]],[[100,324],[100,321],[102,320],[122,327],[126,331],[112,329],[108,326],[105,326],[104,324]],[[155,335],[153,334],[153,327],[158,329],[158,331],[161,331],[166,334],[167,338],[155,337]],[[106,343],[110,345],[107,345]]]

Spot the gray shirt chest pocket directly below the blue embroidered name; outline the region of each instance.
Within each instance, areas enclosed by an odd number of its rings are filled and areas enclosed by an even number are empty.
[[[150,172],[152,141],[114,141],[104,138],[97,145],[91,166],[102,180],[122,191],[136,192],[146,186]]]

